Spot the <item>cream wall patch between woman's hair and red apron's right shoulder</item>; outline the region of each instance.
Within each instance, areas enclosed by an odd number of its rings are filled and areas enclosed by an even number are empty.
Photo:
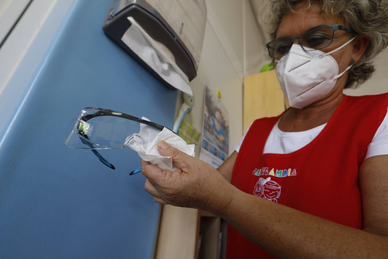
[[[345,94],[352,96],[383,94],[388,92],[388,48],[376,57],[376,71],[372,77],[357,89],[347,89]]]

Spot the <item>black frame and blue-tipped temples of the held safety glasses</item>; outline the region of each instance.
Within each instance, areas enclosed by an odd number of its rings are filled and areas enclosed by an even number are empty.
[[[87,134],[84,134],[83,132],[78,130],[81,120],[83,122],[87,122],[88,120],[90,120],[92,118],[95,118],[95,117],[99,117],[99,116],[114,116],[114,117],[120,117],[120,118],[125,118],[127,120],[132,120],[132,121],[135,121],[135,122],[139,122],[139,123],[151,126],[151,127],[155,128],[155,129],[158,129],[160,131],[162,131],[164,128],[166,128],[166,127],[164,127],[164,126],[162,126],[162,125],[160,125],[158,123],[149,122],[148,120],[143,120],[143,119],[137,118],[137,117],[132,116],[132,115],[128,115],[128,114],[125,114],[125,113],[121,113],[121,112],[113,111],[113,110],[109,110],[109,109],[87,107],[87,108],[84,108],[83,110],[97,110],[96,113],[87,114],[87,115],[83,115],[83,116],[80,115],[80,117],[77,120],[77,124],[74,125],[74,129],[73,129],[75,132],[77,132],[78,135],[80,135],[79,138],[81,139],[82,143],[85,144],[85,145],[88,145],[90,148],[94,148],[94,144],[89,141],[89,137],[87,136]],[[174,132],[174,134],[178,135],[175,132]],[[116,169],[114,167],[114,165],[109,163],[97,150],[92,149],[92,152],[94,153],[94,155],[96,155],[99,158],[101,163],[103,163],[104,165],[106,165],[107,167],[109,167],[109,168],[111,168],[113,170]],[[140,170],[135,169],[135,170],[133,170],[130,173],[130,175],[136,174],[138,172],[140,172]]]

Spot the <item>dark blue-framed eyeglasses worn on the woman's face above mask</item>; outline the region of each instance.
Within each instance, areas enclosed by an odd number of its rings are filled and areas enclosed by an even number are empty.
[[[347,29],[341,25],[321,26],[309,30],[295,38],[277,38],[272,42],[268,42],[266,44],[268,54],[272,58],[280,58],[284,55],[287,55],[288,51],[293,45],[293,41],[296,39],[299,41],[299,45],[301,45],[305,51],[324,49],[329,47],[333,42],[334,32],[336,30],[347,31],[348,33],[352,34],[354,33],[352,30]]]

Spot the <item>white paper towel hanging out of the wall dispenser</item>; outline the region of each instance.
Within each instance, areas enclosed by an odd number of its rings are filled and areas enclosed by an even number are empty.
[[[131,26],[125,31],[121,40],[136,53],[149,67],[167,83],[189,96],[193,95],[189,78],[175,62],[171,51],[158,42],[138,24],[133,17],[128,17]]]

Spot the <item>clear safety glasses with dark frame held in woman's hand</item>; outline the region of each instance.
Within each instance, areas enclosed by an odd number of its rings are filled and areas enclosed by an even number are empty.
[[[162,131],[162,125],[142,120],[134,116],[118,111],[103,108],[85,108],[78,119],[73,119],[69,124],[64,138],[65,146],[69,148],[91,149],[99,160],[111,169],[115,167],[100,155],[97,149],[121,149],[130,141],[140,141],[144,145],[144,139],[140,132],[140,125],[147,125],[153,129]],[[130,175],[140,172],[133,170]]]

